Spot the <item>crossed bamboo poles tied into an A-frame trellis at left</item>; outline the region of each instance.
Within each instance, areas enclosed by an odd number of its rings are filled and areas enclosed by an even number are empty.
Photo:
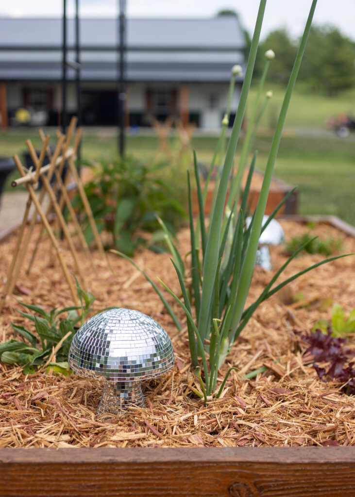
[[[12,294],[18,280],[25,255],[28,252],[33,228],[35,226],[35,223],[38,221],[38,217],[39,222],[43,226],[43,230],[39,232],[38,238],[36,240],[35,248],[32,252],[31,259],[27,268],[27,274],[30,272],[37,250],[40,247],[42,236],[44,233],[46,233],[51,240],[51,247],[54,250],[55,256],[59,260],[64,277],[68,282],[68,286],[72,294],[74,303],[76,306],[80,305],[77,291],[73,283],[73,278],[69,273],[67,264],[63,258],[60,246],[55,236],[56,228],[60,229],[69,245],[79,280],[81,284],[86,288],[85,276],[80,264],[80,257],[75,247],[73,236],[70,233],[67,222],[63,216],[63,209],[64,207],[66,207],[71,216],[71,221],[74,224],[76,235],[78,236],[80,244],[85,253],[89,255],[92,261],[89,246],[86,242],[85,236],[68,195],[66,183],[69,175],[73,177],[78,193],[84,204],[85,212],[88,216],[90,227],[94,235],[96,248],[98,249],[101,256],[105,256],[102,242],[100,240],[92,215],[90,204],[85,193],[83,182],[75,165],[75,161],[77,159],[77,151],[82,134],[81,128],[76,129],[76,124],[77,118],[73,117],[70,122],[67,135],[63,135],[60,131],[57,131],[57,144],[53,152],[49,147],[50,137],[46,136],[43,130],[39,130],[39,135],[42,140],[42,148],[39,156],[37,155],[32,142],[30,140],[26,140],[26,146],[33,161],[34,170],[26,170],[25,167],[22,165],[19,157],[17,155],[13,156],[13,160],[16,164],[20,177],[12,181],[11,184],[13,187],[24,185],[28,191],[28,199],[26,202],[25,211],[23,213],[22,223],[17,235],[16,245],[13,252],[11,264],[8,269],[6,282],[0,296],[0,313],[2,312],[2,309],[4,307],[7,295]],[[72,140],[73,146],[71,146]],[[44,159],[46,157],[48,157],[49,159],[49,164],[43,165]],[[52,186],[53,178],[54,183]],[[37,195],[35,190],[38,186],[39,179],[41,179],[43,187],[40,190],[40,193]],[[46,197],[48,206],[44,208],[44,200]],[[32,205],[34,205],[34,211],[31,217],[29,217]],[[54,212],[55,214],[56,226],[54,228],[49,222],[52,212]]]

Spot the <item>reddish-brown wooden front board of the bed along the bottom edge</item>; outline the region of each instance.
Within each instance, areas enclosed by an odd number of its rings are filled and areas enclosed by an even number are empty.
[[[354,447],[0,449],[3,497],[350,497]]]

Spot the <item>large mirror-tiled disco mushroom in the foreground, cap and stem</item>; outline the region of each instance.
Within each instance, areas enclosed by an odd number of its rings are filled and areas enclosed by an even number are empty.
[[[68,361],[81,376],[103,380],[97,414],[143,407],[141,382],[174,366],[168,333],[153,319],[132,309],[96,314],[74,335]]]

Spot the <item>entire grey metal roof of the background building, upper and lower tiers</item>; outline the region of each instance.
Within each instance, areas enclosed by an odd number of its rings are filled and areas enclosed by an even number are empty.
[[[0,78],[60,80],[61,28],[61,19],[0,18]],[[82,80],[115,81],[117,20],[81,19],[80,37]],[[74,59],[73,19],[68,47]],[[227,82],[231,67],[244,64],[244,47],[236,17],[128,19],[127,80]]]

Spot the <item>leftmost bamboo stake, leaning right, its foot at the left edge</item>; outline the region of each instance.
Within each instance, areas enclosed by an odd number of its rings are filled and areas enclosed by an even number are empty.
[[[49,140],[49,138],[48,138],[48,140]],[[46,139],[47,144],[48,144],[48,140]],[[43,154],[43,149],[42,149],[41,155],[40,155],[40,159],[39,159],[39,161],[36,164],[36,171],[35,171],[35,176],[34,176],[34,183],[37,183],[37,181],[38,181],[39,171],[40,171],[43,159],[44,159],[44,154]],[[22,168],[22,166],[21,166],[21,168]],[[23,168],[22,168],[22,172],[23,172],[22,175],[24,176],[25,173],[23,171]],[[27,224],[27,220],[28,220],[28,216],[29,216],[29,211],[30,211],[30,208],[31,208],[32,200],[33,200],[32,196],[29,193],[28,199],[27,199],[27,202],[26,202],[25,212],[24,212],[23,219],[22,219],[22,224],[21,224],[20,232],[19,232],[18,237],[17,237],[17,242],[16,242],[15,250],[13,252],[12,261],[11,261],[11,264],[10,264],[10,267],[9,267],[9,270],[8,270],[8,273],[7,273],[7,279],[6,279],[5,287],[3,289],[3,292],[2,292],[2,295],[1,295],[1,299],[0,299],[0,313],[2,312],[2,309],[3,309],[3,306],[4,306],[5,299],[6,299],[7,295],[12,292],[13,287],[16,284],[16,277],[18,275],[19,267],[21,267],[21,263],[17,263],[17,265],[16,265],[16,261],[17,261],[17,257],[18,257],[18,254],[19,254],[19,249],[20,249],[20,246],[21,246],[21,243],[22,243],[22,239],[23,239],[25,227],[26,227],[26,224]],[[37,211],[35,210],[34,211],[34,216],[36,216],[36,212]],[[28,244],[28,240],[27,240],[27,244]],[[26,249],[26,247],[27,247],[27,245],[24,244],[24,248],[22,248],[22,252]],[[20,254],[20,259],[21,259],[21,254]],[[13,273],[13,271],[15,271],[15,272]],[[11,291],[10,291],[10,289],[11,289]],[[5,339],[4,332],[3,332],[3,339]]]

